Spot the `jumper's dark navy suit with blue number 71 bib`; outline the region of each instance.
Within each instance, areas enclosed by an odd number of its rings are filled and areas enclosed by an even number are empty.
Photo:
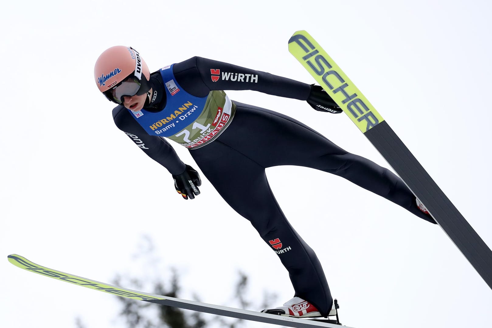
[[[222,91],[256,90],[306,100],[308,84],[200,57],[163,67],[150,82],[153,88],[143,110],[113,110],[118,128],[173,175],[183,173],[185,164],[163,137],[187,147],[223,199],[277,253],[295,296],[322,315],[333,303],[322,266],[279,208],[266,168],[297,165],[332,173],[433,222],[388,169],[339,148],[295,119],[230,100]],[[302,106],[302,111],[310,110]]]

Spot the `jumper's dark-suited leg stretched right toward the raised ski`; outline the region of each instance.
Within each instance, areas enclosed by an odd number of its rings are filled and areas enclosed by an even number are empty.
[[[224,132],[224,142],[241,149],[262,166],[298,165],[329,172],[435,223],[418,209],[413,193],[390,170],[341,149],[295,119],[259,107],[237,105],[237,121],[231,124],[234,130]]]

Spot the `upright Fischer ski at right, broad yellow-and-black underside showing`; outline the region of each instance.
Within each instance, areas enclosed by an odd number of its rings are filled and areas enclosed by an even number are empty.
[[[305,30],[295,32],[289,39],[289,52],[352,119],[492,288],[490,248],[362,92]]]

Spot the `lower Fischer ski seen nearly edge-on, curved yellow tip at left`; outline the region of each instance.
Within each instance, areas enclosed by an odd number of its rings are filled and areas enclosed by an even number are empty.
[[[87,287],[96,291],[113,294],[124,298],[132,298],[137,300],[143,300],[160,305],[174,306],[182,309],[211,313],[220,316],[232,317],[237,319],[245,319],[250,321],[258,321],[267,324],[280,325],[285,327],[297,327],[297,328],[313,328],[313,327],[325,327],[325,328],[349,328],[346,326],[325,323],[312,319],[299,319],[293,317],[287,317],[282,315],[267,314],[261,312],[255,312],[250,310],[236,309],[232,307],[207,304],[192,300],[186,300],[181,298],[172,298],[162,295],[154,295],[143,292],[134,291],[110,284],[98,282],[92,279],[79,277],[70,273],[42,267],[35,263],[32,263],[25,257],[17,254],[11,254],[8,256],[8,262],[12,263],[18,268],[22,268],[31,272],[45,275],[50,278],[69,282],[71,284]],[[337,315],[338,318],[338,315]],[[324,320],[320,318],[319,320]]]

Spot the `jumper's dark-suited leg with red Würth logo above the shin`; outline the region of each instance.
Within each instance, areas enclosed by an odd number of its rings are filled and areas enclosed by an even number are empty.
[[[333,300],[321,264],[279,208],[265,168],[219,140],[190,153],[224,200],[276,251],[289,272],[295,296],[327,314]]]

